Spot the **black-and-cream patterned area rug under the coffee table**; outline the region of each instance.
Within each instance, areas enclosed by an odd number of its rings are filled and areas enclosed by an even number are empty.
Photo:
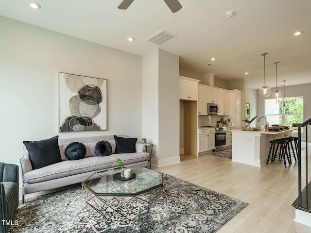
[[[9,233],[213,233],[247,206],[164,174],[166,190],[155,206],[134,221],[116,214],[105,220],[86,204],[81,186],[27,199]],[[130,207],[128,208],[130,209]]]

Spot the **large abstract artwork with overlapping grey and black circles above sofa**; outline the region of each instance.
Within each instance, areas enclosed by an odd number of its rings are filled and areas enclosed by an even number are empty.
[[[59,132],[107,130],[107,80],[58,73]]]

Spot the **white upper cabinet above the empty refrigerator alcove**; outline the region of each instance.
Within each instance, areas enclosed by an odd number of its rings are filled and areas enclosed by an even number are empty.
[[[198,83],[200,80],[179,76],[179,99],[198,100]]]

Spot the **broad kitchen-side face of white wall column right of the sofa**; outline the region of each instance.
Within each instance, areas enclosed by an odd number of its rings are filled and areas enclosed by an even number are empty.
[[[159,50],[159,161],[158,166],[180,162],[179,56]]]

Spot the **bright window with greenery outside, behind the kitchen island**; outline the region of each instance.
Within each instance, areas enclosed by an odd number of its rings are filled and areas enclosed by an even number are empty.
[[[275,99],[265,100],[265,116],[269,125],[279,124],[292,126],[303,122],[303,97],[285,98],[289,102],[277,102]]]

